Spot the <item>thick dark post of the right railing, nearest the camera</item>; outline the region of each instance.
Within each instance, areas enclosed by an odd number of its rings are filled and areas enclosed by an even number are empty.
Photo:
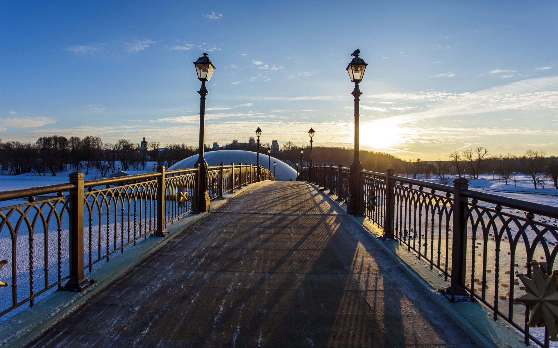
[[[467,252],[467,198],[461,196],[461,190],[469,188],[468,180],[454,180],[453,202],[453,236],[451,240],[451,281],[446,288],[451,302],[466,301],[465,290],[466,252]]]

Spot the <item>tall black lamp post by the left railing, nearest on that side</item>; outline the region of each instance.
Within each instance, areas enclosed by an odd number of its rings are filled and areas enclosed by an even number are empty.
[[[208,95],[208,90],[205,88],[205,82],[211,79],[215,66],[211,63],[207,53],[203,57],[199,57],[194,62],[198,79],[201,81],[201,88],[198,91],[200,94],[200,153],[196,166],[198,166],[198,182],[196,183],[196,204],[194,204],[196,212],[206,212],[210,207],[210,199],[207,183],[208,163],[204,158],[204,126],[205,126],[205,96]]]

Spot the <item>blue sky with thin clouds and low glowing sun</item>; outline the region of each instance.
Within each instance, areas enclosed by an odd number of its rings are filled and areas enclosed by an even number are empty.
[[[255,136],[448,159],[558,155],[556,1],[0,0],[0,139],[205,144]]]

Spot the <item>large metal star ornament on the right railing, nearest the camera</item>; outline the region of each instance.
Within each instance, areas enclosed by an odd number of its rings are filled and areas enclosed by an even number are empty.
[[[527,293],[516,298],[516,301],[529,307],[529,326],[545,326],[550,340],[558,341],[558,271],[547,274],[546,262],[531,261],[531,266],[531,278],[517,275]]]

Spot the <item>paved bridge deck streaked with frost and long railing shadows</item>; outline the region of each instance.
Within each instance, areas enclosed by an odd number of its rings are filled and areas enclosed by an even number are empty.
[[[474,345],[323,193],[262,182],[30,346]]]

